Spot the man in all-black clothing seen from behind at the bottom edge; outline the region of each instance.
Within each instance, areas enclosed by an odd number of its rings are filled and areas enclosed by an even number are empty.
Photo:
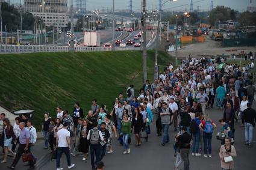
[[[182,135],[178,136],[178,147],[180,148],[181,159],[184,162],[184,170],[189,170],[189,151],[191,145],[191,136],[187,133],[187,128],[182,127]]]

